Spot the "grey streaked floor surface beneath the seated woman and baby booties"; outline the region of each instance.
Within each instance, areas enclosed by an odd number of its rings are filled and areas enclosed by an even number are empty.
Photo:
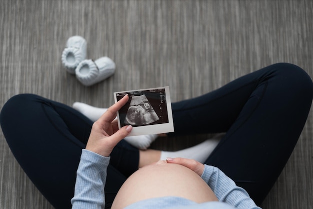
[[[107,107],[114,91],[159,86],[170,87],[174,102],[276,62],[296,64],[313,76],[312,11],[310,0],[2,0],[0,108],[19,93]],[[66,73],[60,57],[73,35],[86,39],[88,58],[110,57],[114,76],[84,87]],[[264,208],[313,208],[312,119],[310,112]],[[200,140],[160,139],[152,146],[173,150]],[[15,161],[2,132],[0,208],[52,208]]]

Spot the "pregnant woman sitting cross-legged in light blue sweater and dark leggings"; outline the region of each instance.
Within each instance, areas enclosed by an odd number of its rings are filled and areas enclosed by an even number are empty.
[[[94,123],[61,103],[16,95],[0,123],[55,208],[259,208],[302,131],[312,87],[301,68],[278,63],[172,103],[175,131],[167,136],[225,133],[212,152],[200,146],[204,164],[179,154],[160,160],[163,152],[123,140],[132,126],[117,130],[114,118],[127,95]]]

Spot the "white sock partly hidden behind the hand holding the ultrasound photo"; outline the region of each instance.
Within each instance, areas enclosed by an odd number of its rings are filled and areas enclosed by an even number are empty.
[[[93,107],[81,102],[75,102],[73,108],[85,115],[92,122],[100,118],[107,108]],[[141,136],[126,136],[124,139],[138,149],[146,149],[157,138],[157,134],[141,135]]]

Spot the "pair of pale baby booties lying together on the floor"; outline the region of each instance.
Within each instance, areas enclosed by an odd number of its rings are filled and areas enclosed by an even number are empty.
[[[108,57],[101,57],[95,61],[85,59],[87,42],[81,36],[72,36],[66,42],[61,60],[66,71],[75,74],[77,80],[84,86],[91,86],[115,72],[115,63]]]

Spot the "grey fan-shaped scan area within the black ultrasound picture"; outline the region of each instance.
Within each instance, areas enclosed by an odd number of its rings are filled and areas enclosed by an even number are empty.
[[[129,125],[147,125],[159,120],[146,96],[131,96],[130,104],[124,120]]]

